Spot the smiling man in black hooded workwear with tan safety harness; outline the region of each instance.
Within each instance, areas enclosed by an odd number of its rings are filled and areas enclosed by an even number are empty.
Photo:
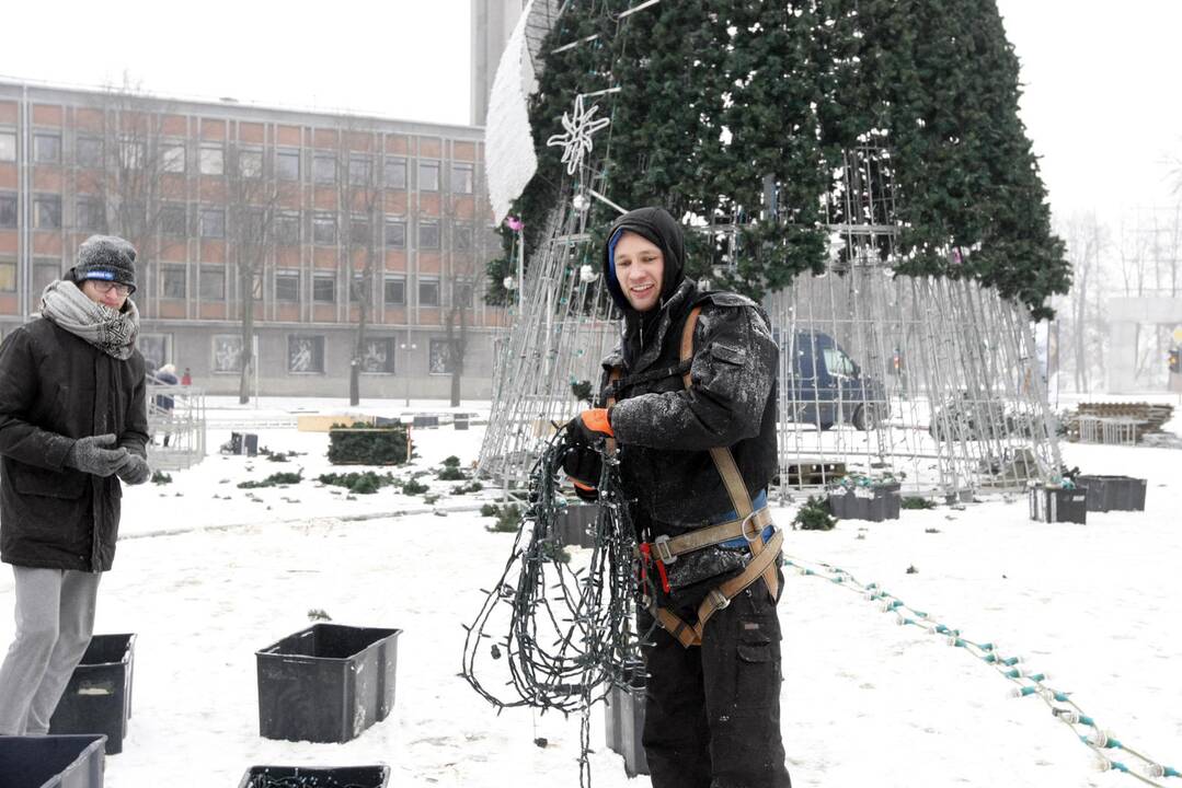
[[[652,786],[787,788],[769,321],[754,301],[686,278],[682,228],[662,208],[621,216],[608,239],[623,339],[604,359],[598,408],[566,426],[564,468],[595,499],[610,438],[632,501],[648,578],[639,631],[660,625],[643,645]]]

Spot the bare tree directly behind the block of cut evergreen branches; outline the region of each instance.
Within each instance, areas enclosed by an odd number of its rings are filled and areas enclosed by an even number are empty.
[[[361,376],[368,350],[368,331],[374,310],[374,279],[382,263],[383,191],[381,138],[346,122],[337,136],[338,204],[343,217],[345,260],[349,276],[349,308],[357,308],[353,353],[349,359],[349,404],[361,402]]]

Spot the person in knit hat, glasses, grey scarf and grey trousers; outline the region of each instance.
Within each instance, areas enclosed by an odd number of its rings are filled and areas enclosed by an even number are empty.
[[[95,235],[0,345],[0,560],[17,633],[0,665],[0,735],[45,734],[90,643],[122,483],[148,468],[136,252]]]

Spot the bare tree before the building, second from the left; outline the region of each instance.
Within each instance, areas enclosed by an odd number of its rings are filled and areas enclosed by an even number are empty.
[[[238,400],[251,400],[254,358],[254,307],[262,298],[264,273],[275,248],[275,214],[288,184],[275,177],[264,149],[232,141],[226,150],[226,241],[227,262],[233,260],[238,280],[241,319],[240,377]]]

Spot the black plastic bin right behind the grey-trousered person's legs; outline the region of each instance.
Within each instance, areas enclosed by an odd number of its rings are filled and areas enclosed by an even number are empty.
[[[96,634],[50,719],[51,734],[105,734],[106,754],[123,751],[131,718],[136,636]]]

